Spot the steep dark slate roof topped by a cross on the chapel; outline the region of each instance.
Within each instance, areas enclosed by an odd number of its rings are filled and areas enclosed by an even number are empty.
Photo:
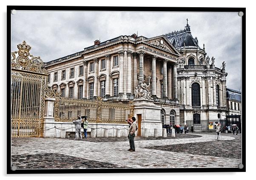
[[[164,35],[175,48],[184,46],[198,46],[197,38],[193,38],[190,31],[190,25],[185,26],[184,30],[178,30]]]

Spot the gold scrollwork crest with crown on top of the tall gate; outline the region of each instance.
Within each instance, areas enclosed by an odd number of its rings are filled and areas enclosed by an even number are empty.
[[[43,61],[40,56],[34,57],[29,53],[31,46],[23,41],[22,44],[17,45],[18,51],[11,52],[11,68],[21,69],[31,72],[39,72],[46,74],[46,69],[42,68]],[[18,56],[16,58],[16,54]]]

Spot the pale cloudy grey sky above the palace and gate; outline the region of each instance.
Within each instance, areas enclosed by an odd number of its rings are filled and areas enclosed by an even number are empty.
[[[215,66],[226,62],[227,87],[241,90],[241,17],[237,13],[17,11],[11,16],[11,51],[23,40],[44,62],[61,58],[120,35],[154,37],[183,30],[188,18],[193,37],[205,44]]]

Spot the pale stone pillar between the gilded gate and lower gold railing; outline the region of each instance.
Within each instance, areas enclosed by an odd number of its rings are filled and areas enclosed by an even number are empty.
[[[56,130],[54,124],[54,102],[55,98],[45,98],[45,109],[44,109],[44,123],[43,123],[43,137],[54,138],[56,137]]]

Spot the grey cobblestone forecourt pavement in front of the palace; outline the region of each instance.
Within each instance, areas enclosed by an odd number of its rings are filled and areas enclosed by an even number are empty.
[[[60,138],[13,138],[12,163],[18,169],[38,168],[39,165],[31,166],[31,162],[38,158],[34,155],[38,154],[48,156],[44,161],[42,160],[40,168],[56,168],[56,166],[58,168],[60,166],[62,168],[94,168],[99,167],[97,164],[100,164],[101,168],[237,167],[241,163],[241,156],[239,157],[241,155],[239,152],[241,151],[241,134],[237,136],[224,134],[221,136],[222,141],[215,141],[214,133],[183,135],[178,136],[192,136],[192,138],[139,140],[135,137],[137,139],[135,152],[127,151],[129,148],[127,140],[89,142]],[[229,157],[230,154],[226,150],[234,151],[235,158]],[[217,151],[221,152],[216,155]],[[60,158],[56,154],[62,157],[68,156],[68,158],[64,163],[58,163]],[[81,154],[86,158],[83,159]],[[22,157],[21,155],[23,155],[22,162],[17,160]],[[32,156],[27,158],[27,155]],[[70,162],[73,160],[70,157],[79,158],[85,164],[71,166]],[[52,162],[51,159],[53,163],[46,163]],[[86,165],[86,162],[89,165]]]

